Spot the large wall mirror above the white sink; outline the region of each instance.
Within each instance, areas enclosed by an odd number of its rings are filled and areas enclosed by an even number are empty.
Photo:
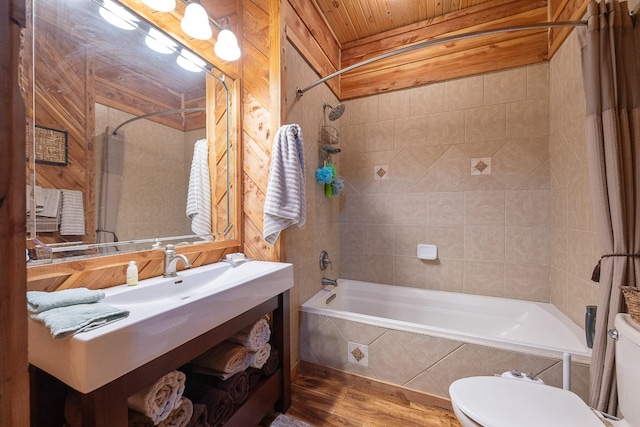
[[[235,238],[235,82],[119,3],[31,4],[27,238],[47,250],[28,265]],[[186,214],[201,139],[210,234]]]

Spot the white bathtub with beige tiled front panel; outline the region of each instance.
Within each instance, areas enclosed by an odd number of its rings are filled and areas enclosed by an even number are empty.
[[[384,292],[390,289],[395,290],[385,297]],[[550,304],[408,288],[398,290],[389,285],[351,280],[340,280],[333,292],[338,296],[328,305],[325,301],[332,291],[323,290],[317,294],[318,304],[314,304],[312,298],[302,306],[300,358],[304,361],[449,398],[449,385],[458,378],[493,375],[511,369],[533,372],[545,383],[562,387],[564,350],[559,347],[566,341],[568,348],[573,347],[569,351],[574,352],[572,390],[583,399],[588,397],[589,357],[576,355],[576,352],[588,353],[582,344],[582,331]],[[443,296],[452,296],[453,305],[440,300]],[[456,302],[458,297],[462,299]],[[419,298],[427,300],[418,301]],[[430,304],[428,299],[435,302]],[[499,306],[483,307],[483,302]],[[527,304],[532,307],[527,309]],[[353,312],[344,311],[342,307],[351,307],[348,309]],[[424,307],[427,309],[420,310]],[[373,315],[363,314],[365,311]],[[401,320],[380,317],[384,315],[381,313],[394,311],[401,314]],[[497,312],[511,319],[505,322]],[[407,316],[411,313],[430,324],[409,320]],[[557,318],[545,319],[547,314]],[[434,315],[436,317],[432,317]],[[451,324],[458,321],[461,330],[453,330]],[[472,330],[465,332],[465,323]],[[484,332],[478,328],[482,323],[487,325]],[[534,340],[548,337],[549,342],[528,342],[523,331],[531,327],[542,331],[532,334]],[[565,328],[567,335],[558,341]],[[486,335],[486,330],[493,336]]]

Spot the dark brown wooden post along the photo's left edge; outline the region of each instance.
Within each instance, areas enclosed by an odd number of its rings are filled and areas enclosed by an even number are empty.
[[[29,425],[25,268],[25,104],[18,82],[25,3],[0,1],[0,425]]]

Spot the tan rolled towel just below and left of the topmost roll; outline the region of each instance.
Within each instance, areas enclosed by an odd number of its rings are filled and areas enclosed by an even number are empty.
[[[246,347],[223,341],[193,360],[195,372],[235,374],[249,367],[249,351]]]

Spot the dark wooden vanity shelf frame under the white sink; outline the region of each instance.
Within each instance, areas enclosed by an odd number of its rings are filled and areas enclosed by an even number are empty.
[[[286,412],[291,405],[291,362],[289,356],[289,291],[255,306],[237,317],[211,329],[122,377],[83,394],[82,425],[114,427],[127,425],[127,397],[153,384],[160,377],[179,368],[211,347],[224,341],[267,313],[273,313],[271,342],[280,355],[280,368],[255,387],[245,403],[226,426],[257,425],[273,410]],[[31,373],[31,426],[60,426],[64,393],[68,386],[35,366]],[[99,367],[97,367],[99,369]]]

